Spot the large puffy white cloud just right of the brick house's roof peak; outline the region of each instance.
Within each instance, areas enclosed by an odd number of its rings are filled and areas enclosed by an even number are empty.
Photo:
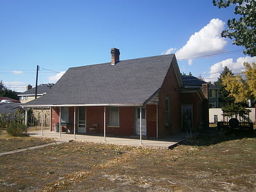
[[[189,59],[188,64],[192,65],[194,57],[202,57],[209,54],[218,54],[224,51],[227,45],[225,38],[221,37],[225,23],[219,19],[212,19],[207,26],[204,26],[199,32],[191,35],[187,43],[175,54],[178,60]],[[175,50],[168,49],[165,54]]]

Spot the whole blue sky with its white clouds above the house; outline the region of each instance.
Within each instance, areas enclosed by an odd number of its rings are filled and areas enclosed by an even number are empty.
[[[55,83],[69,67],[110,62],[118,48],[121,60],[175,53],[182,73],[213,82],[226,65],[239,73],[244,61],[256,62],[221,38],[234,8],[212,0],[1,0],[0,79],[25,91],[37,65],[38,84]]]

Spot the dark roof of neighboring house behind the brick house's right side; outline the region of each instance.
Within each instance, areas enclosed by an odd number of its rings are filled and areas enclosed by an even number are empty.
[[[202,87],[202,84],[208,84],[208,87],[210,88],[216,88],[213,84],[210,84],[208,82],[205,82],[202,79],[199,79],[197,77],[194,76],[186,76],[186,75],[182,75],[182,81],[183,81],[183,85],[185,87]]]

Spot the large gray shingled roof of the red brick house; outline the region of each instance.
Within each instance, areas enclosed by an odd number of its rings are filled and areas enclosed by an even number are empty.
[[[51,91],[24,105],[144,104],[160,89],[174,54],[69,68]]]

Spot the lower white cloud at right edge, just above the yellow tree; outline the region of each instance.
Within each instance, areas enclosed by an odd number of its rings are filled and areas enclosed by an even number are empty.
[[[208,72],[210,73],[210,76],[205,77],[205,80],[215,82],[225,66],[227,66],[235,74],[241,73],[244,70],[244,62],[248,62],[250,64],[256,63],[256,57],[239,57],[236,59],[236,62],[233,62],[233,59],[226,59],[215,63],[210,67],[210,71]]]

